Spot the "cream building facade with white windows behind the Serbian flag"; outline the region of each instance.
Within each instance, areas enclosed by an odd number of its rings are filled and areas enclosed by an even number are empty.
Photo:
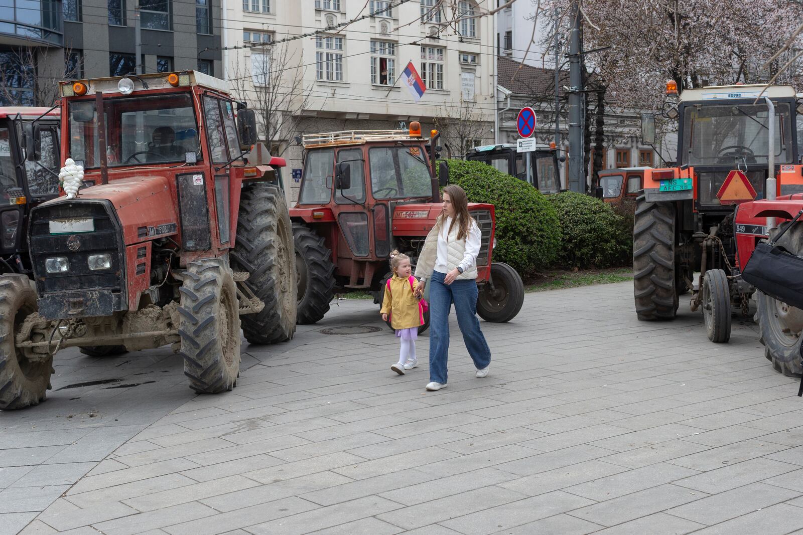
[[[290,169],[302,167],[296,136],[414,120],[440,129],[444,155],[459,157],[494,136],[495,22],[479,16],[494,3],[461,0],[453,13],[437,0],[226,2],[226,79],[251,107],[282,104],[262,134]],[[397,81],[410,62],[426,85],[418,102]]]

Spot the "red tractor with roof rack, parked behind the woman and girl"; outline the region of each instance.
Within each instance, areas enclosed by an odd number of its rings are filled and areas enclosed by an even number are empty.
[[[380,302],[393,249],[415,264],[441,212],[440,186],[448,180],[446,162],[436,166],[437,140],[437,131],[424,139],[418,122],[409,131],[303,137],[304,172],[290,210],[300,323],[323,318],[336,292],[369,291]],[[493,205],[470,203],[469,210],[483,233],[477,313],[489,322],[510,321],[524,302],[524,285],[516,270],[491,260]]]

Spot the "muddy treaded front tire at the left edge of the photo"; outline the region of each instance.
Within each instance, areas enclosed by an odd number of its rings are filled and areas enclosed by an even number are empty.
[[[14,344],[18,326],[36,312],[36,292],[22,275],[0,277],[0,409],[38,405],[46,398],[53,358],[26,359]]]

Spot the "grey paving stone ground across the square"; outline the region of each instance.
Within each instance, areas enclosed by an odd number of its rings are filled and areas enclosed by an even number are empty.
[[[168,350],[59,354],[40,407],[0,414],[0,533],[803,533],[797,380],[756,326],[638,322],[630,283],[528,294],[482,322],[476,379],[452,323],[450,383],[389,370],[389,330],[346,301],[238,387],[194,395]],[[84,384],[105,379],[111,383]]]

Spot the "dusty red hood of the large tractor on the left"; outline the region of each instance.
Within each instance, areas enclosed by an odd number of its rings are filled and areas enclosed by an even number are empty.
[[[78,197],[58,197],[42,206],[81,201],[108,201],[120,219],[125,245],[178,232],[175,203],[164,176],[132,176],[81,189]]]

